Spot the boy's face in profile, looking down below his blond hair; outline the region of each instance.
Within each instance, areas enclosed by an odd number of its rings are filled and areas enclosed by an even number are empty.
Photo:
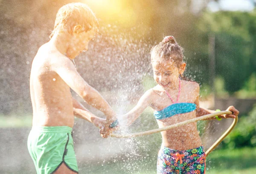
[[[69,49],[67,50],[67,57],[70,59],[76,58],[81,52],[87,51],[89,41],[94,38],[95,31],[91,29],[88,32],[73,33],[70,41]]]

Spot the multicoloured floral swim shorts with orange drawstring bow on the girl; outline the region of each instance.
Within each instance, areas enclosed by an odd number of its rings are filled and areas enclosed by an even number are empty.
[[[204,174],[205,153],[203,146],[178,151],[161,147],[157,159],[157,174]]]

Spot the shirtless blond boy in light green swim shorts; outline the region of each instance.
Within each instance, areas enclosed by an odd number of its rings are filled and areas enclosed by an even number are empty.
[[[71,61],[82,51],[87,51],[89,41],[98,32],[98,25],[91,9],[83,3],[61,7],[50,41],[38,49],[32,62],[33,122],[28,149],[38,174],[78,173],[71,136],[74,113],[100,127],[105,136],[110,131],[111,122],[116,120],[110,105],[81,78]],[[73,99],[70,88],[105,113],[106,120],[89,113]],[[83,116],[80,111],[87,114]]]

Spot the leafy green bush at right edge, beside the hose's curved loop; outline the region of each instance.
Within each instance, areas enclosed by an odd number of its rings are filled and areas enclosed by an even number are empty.
[[[236,128],[222,142],[224,148],[256,146],[256,105],[248,116],[241,116]]]

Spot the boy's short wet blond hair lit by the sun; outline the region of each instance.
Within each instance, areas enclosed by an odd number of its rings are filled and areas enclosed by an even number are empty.
[[[91,29],[96,34],[99,31],[99,22],[93,11],[84,3],[68,3],[62,6],[57,14],[54,29],[49,36],[52,38],[55,32],[63,32],[72,26],[81,25],[82,30],[87,32]]]

